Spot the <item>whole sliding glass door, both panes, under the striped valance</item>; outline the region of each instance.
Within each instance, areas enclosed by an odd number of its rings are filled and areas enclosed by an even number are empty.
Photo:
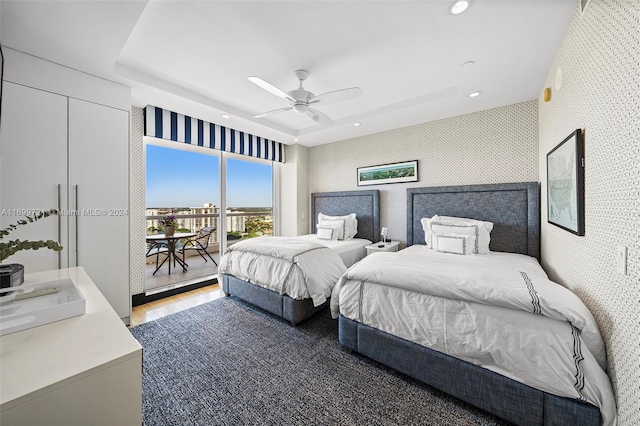
[[[273,234],[271,161],[154,138],[145,142],[146,293],[212,279],[226,247]],[[167,216],[175,216],[173,239],[163,223]]]

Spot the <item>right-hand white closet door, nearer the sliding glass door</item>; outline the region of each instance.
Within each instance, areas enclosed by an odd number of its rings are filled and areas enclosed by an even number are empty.
[[[127,318],[128,111],[69,100],[69,199],[78,211],[70,223],[70,262],[84,267],[120,318]]]

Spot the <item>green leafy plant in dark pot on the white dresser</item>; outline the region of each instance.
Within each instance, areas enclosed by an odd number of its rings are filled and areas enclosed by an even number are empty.
[[[25,219],[21,219],[15,224],[9,225],[5,229],[0,230],[0,240],[9,235],[18,226],[27,225],[29,223],[37,222],[39,219],[57,215],[58,210],[51,209],[48,211],[42,211],[36,213],[33,216],[25,216]],[[12,287],[22,284],[24,281],[24,267],[15,263],[4,264],[6,258],[12,254],[21,250],[38,250],[40,248],[48,248],[53,251],[62,250],[62,246],[53,240],[39,240],[39,241],[0,241],[0,287]]]

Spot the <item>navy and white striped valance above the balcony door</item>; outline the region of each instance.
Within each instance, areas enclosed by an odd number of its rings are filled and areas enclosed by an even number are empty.
[[[144,134],[284,163],[284,144],[147,105]]]

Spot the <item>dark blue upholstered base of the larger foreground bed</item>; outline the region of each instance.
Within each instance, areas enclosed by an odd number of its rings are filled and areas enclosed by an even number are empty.
[[[534,389],[342,315],[338,335],[343,346],[517,425],[600,425],[594,405]]]

